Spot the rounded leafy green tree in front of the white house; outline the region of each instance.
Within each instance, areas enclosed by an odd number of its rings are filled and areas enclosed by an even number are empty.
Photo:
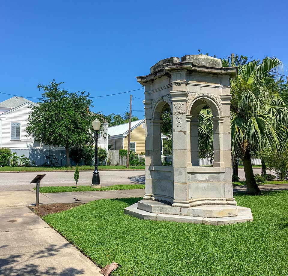
[[[90,94],[69,93],[60,88],[61,84],[55,80],[48,85],[38,84],[37,88],[43,91],[42,100],[32,108],[26,130],[39,143],[64,146],[70,166],[69,148],[92,144],[95,141],[92,121],[97,117],[103,123],[103,116],[89,111]]]

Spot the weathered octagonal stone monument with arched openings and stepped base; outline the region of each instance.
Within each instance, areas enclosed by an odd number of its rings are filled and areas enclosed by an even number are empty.
[[[145,86],[145,195],[125,208],[140,219],[205,224],[252,221],[249,208],[233,198],[230,139],[230,78],[237,67],[220,59],[186,55],[160,60],[150,74],[137,77]],[[198,115],[213,114],[213,167],[199,166]],[[172,111],[172,166],[161,162],[161,114]]]

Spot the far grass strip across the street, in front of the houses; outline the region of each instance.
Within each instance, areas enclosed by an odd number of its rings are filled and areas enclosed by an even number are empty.
[[[94,170],[94,166],[79,166],[79,170]],[[98,166],[98,170],[125,170],[126,166]],[[145,169],[145,166],[129,166],[131,170]],[[0,167],[0,171],[38,171],[38,170],[75,170],[75,166],[59,166],[59,167]]]

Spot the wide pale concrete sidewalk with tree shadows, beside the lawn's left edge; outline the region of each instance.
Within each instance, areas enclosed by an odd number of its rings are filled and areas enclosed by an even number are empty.
[[[42,203],[51,199],[40,195]],[[35,192],[0,193],[0,275],[102,275],[100,268],[26,206]]]

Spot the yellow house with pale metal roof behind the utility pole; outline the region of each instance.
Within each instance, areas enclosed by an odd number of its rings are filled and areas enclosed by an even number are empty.
[[[110,145],[110,149],[127,149],[128,131],[129,123],[108,127],[108,145]],[[163,138],[166,138],[166,136],[161,137],[162,145]],[[130,150],[137,154],[145,152],[145,119],[131,122]]]

